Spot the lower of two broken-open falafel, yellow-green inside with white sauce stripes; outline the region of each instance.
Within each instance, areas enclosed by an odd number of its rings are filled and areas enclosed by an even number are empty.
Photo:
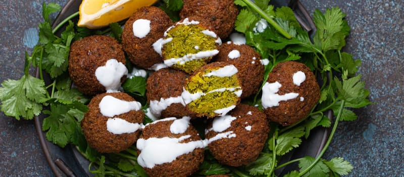
[[[196,116],[213,118],[225,115],[240,103],[241,84],[237,68],[213,62],[199,68],[186,81],[182,98]]]

